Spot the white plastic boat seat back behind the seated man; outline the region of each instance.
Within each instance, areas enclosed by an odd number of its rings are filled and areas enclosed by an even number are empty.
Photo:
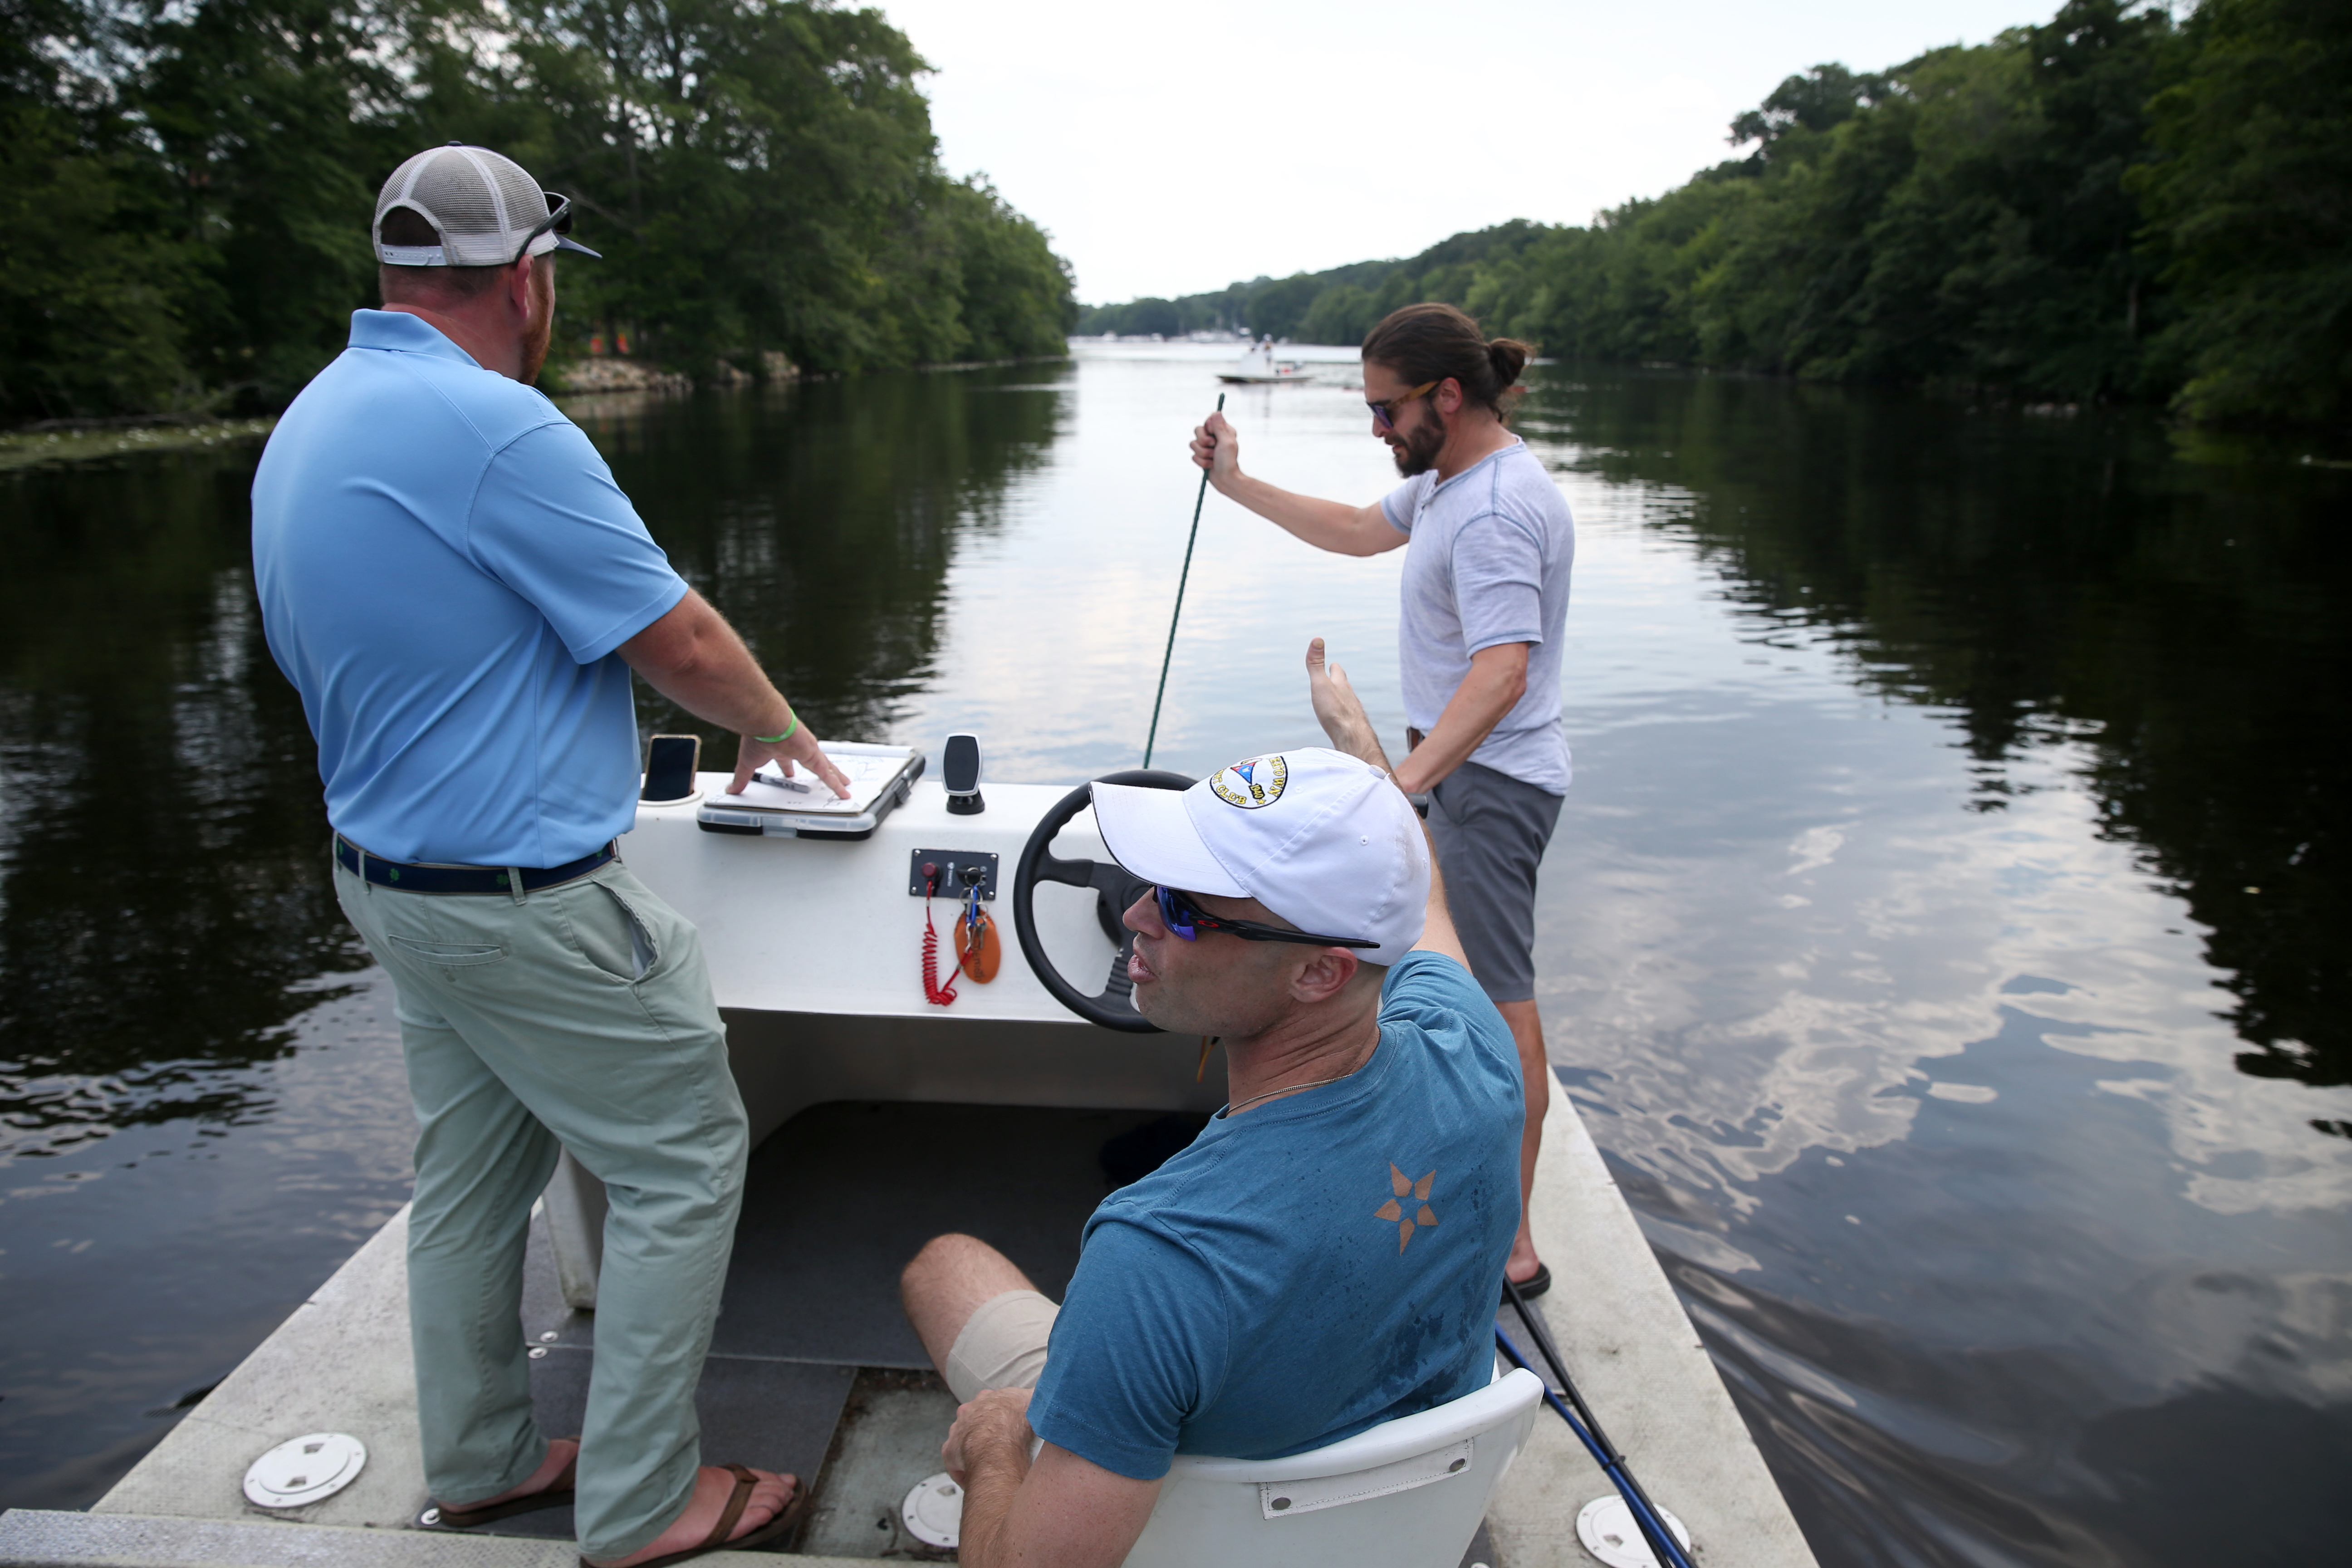
[[[1456,1568],[1541,1403],[1512,1368],[1287,1460],[1176,1455],[1127,1568]]]

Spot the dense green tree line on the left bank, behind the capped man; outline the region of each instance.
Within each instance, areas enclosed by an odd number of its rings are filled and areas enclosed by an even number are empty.
[[[470,141],[576,207],[557,353],[717,374],[1061,353],[1068,263],[950,179],[915,47],[833,0],[0,0],[0,418],[268,409]]]

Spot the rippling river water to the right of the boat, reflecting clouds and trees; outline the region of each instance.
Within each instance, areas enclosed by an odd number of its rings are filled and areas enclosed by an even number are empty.
[[[1816,1549],[2324,1561],[2340,480],[1590,371],[1529,428],[1585,527],[1555,1058]]]

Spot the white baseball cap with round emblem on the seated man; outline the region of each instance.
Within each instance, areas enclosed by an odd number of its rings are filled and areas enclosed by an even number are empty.
[[[1134,875],[1376,943],[1367,964],[1402,959],[1428,919],[1430,849],[1411,802],[1381,769],[1322,745],[1244,757],[1190,790],[1098,783],[1094,820]]]

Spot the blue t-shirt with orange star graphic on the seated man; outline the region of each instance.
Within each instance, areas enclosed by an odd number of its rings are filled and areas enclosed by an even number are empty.
[[[1486,1385],[1519,1229],[1519,1056],[1470,971],[1411,952],[1362,1070],[1216,1119],[1103,1199],[1030,1399],[1138,1481],[1277,1460]]]

